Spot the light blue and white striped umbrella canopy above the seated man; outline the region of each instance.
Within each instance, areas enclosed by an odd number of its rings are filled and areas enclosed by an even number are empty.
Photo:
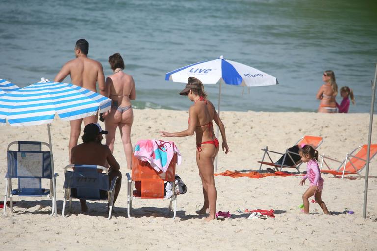
[[[81,119],[105,112],[111,100],[80,86],[41,81],[0,96],[0,124],[12,126],[51,123],[57,114],[62,120]]]

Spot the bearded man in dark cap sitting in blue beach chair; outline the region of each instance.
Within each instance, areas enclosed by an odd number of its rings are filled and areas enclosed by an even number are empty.
[[[103,131],[98,123],[91,123],[85,126],[84,135],[82,136],[83,143],[72,148],[71,163],[74,165],[98,165],[106,166],[106,162],[110,165],[108,169],[108,179],[110,182],[117,177],[116,186],[114,190],[114,203],[118,197],[121,187],[122,173],[119,171],[120,167],[116,159],[111,153],[108,146],[101,144],[103,140],[102,134],[107,134]],[[101,172],[102,170],[99,170]],[[86,200],[80,199],[82,212],[87,212],[88,207]],[[110,210],[110,204],[108,210]]]

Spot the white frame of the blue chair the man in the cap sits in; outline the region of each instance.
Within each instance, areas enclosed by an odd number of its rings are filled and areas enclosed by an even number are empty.
[[[75,166],[74,164],[67,165],[64,168],[64,173],[66,173],[68,169],[73,170],[74,166]],[[85,166],[85,165],[80,165],[80,166]],[[105,174],[108,176],[108,169],[106,167],[97,166],[97,169],[105,171]],[[108,220],[110,220],[111,217],[112,217],[112,208],[113,208],[113,205],[114,205],[114,197],[115,197],[115,185],[116,185],[117,180],[118,180],[118,177],[114,177],[112,179],[111,184],[110,184],[110,190],[107,191],[108,192],[108,198],[106,200],[98,200],[98,201],[108,201],[108,203],[110,205],[110,210],[108,212]],[[63,217],[67,217],[67,215],[64,215],[67,200],[69,200],[69,210],[72,213],[72,197],[71,197],[71,189],[70,188],[66,188],[65,191],[64,191],[63,210],[62,210],[62,213],[61,213]]]

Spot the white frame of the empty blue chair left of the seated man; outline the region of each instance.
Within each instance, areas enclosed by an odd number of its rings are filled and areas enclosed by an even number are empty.
[[[10,150],[10,147],[12,145],[15,145],[15,144],[18,144],[19,141],[13,141],[11,143],[9,143],[8,145],[8,148],[6,150],[6,152],[8,152]],[[38,142],[41,142],[41,141],[38,141]],[[46,142],[41,142],[42,145],[44,146],[47,146],[49,148],[49,151],[51,152],[51,147],[48,143]],[[50,216],[53,216],[54,215],[54,210],[55,210],[55,206],[54,206],[54,190],[56,191],[56,178],[59,174],[58,173],[55,173],[53,178],[55,179],[54,183],[55,183],[55,189],[53,189],[53,180],[50,179],[50,193],[48,195],[42,195],[42,196],[27,196],[27,197],[50,197],[50,200],[51,200],[51,214]],[[3,214],[6,216],[6,208],[7,208],[7,201],[8,201],[8,198],[9,198],[9,207],[10,207],[10,210],[12,213],[15,213],[16,211],[13,209],[13,196],[19,196],[19,195],[13,195],[12,193],[12,181],[11,181],[11,178],[5,178],[5,196],[4,196],[4,205],[3,205]],[[20,197],[23,197],[22,195]]]

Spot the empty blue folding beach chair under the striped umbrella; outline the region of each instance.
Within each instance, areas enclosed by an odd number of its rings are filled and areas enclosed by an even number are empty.
[[[10,150],[17,145],[16,151]],[[42,145],[49,151],[42,151]],[[44,147],[45,148],[45,147]],[[14,141],[8,145],[8,171],[5,176],[5,198],[3,213],[6,215],[7,200],[11,211],[13,209],[14,196],[50,197],[52,201],[52,213],[54,214],[53,180],[56,184],[57,173],[52,175],[51,147],[46,142]],[[12,190],[12,179],[17,179],[18,188]],[[42,180],[50,180],[50,189],[42,188]]]

